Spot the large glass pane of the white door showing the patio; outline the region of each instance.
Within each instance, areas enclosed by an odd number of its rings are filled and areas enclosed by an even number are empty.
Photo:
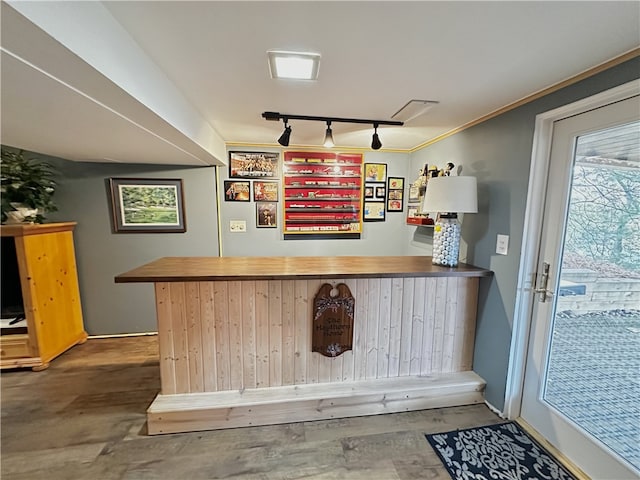
[[[640,470],[639,136],[577,138],[543,398]]]

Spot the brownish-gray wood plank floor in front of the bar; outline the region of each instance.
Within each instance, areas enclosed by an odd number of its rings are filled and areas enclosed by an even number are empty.
[[[155,336],[90,339],[0,383],[2,480],[447,480],[424,434],[501,421],[475,405],[151,437]]]

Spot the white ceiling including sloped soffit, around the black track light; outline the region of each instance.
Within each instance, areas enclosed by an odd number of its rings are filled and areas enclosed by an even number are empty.
[[[440,102],[384,149],[410,151],[640,45],[640,2],[2,3],[2,143],[78,161],[207,165],[277,146],[264,111],[391,119]],[[273,80],[266,51],[322,55]],[[291,147],[325,126],[292,121]],[[341,147],[372,129],[334,123]]]

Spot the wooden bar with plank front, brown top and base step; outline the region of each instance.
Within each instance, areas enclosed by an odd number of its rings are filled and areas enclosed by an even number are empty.
[[[149,434],[483,401],[472,370],[478,284],[431,257],[178,257],[118,275],[155,284],[161,392]],[[353,349],[311,351],[313,298],[345,283]]]

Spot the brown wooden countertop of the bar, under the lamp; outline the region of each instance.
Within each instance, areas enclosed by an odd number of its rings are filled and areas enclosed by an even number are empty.
[[[307,278],[488,277],[465,263],[441,267],[427,256],[164,257],[115,277],[116,283],[295,280]]]

